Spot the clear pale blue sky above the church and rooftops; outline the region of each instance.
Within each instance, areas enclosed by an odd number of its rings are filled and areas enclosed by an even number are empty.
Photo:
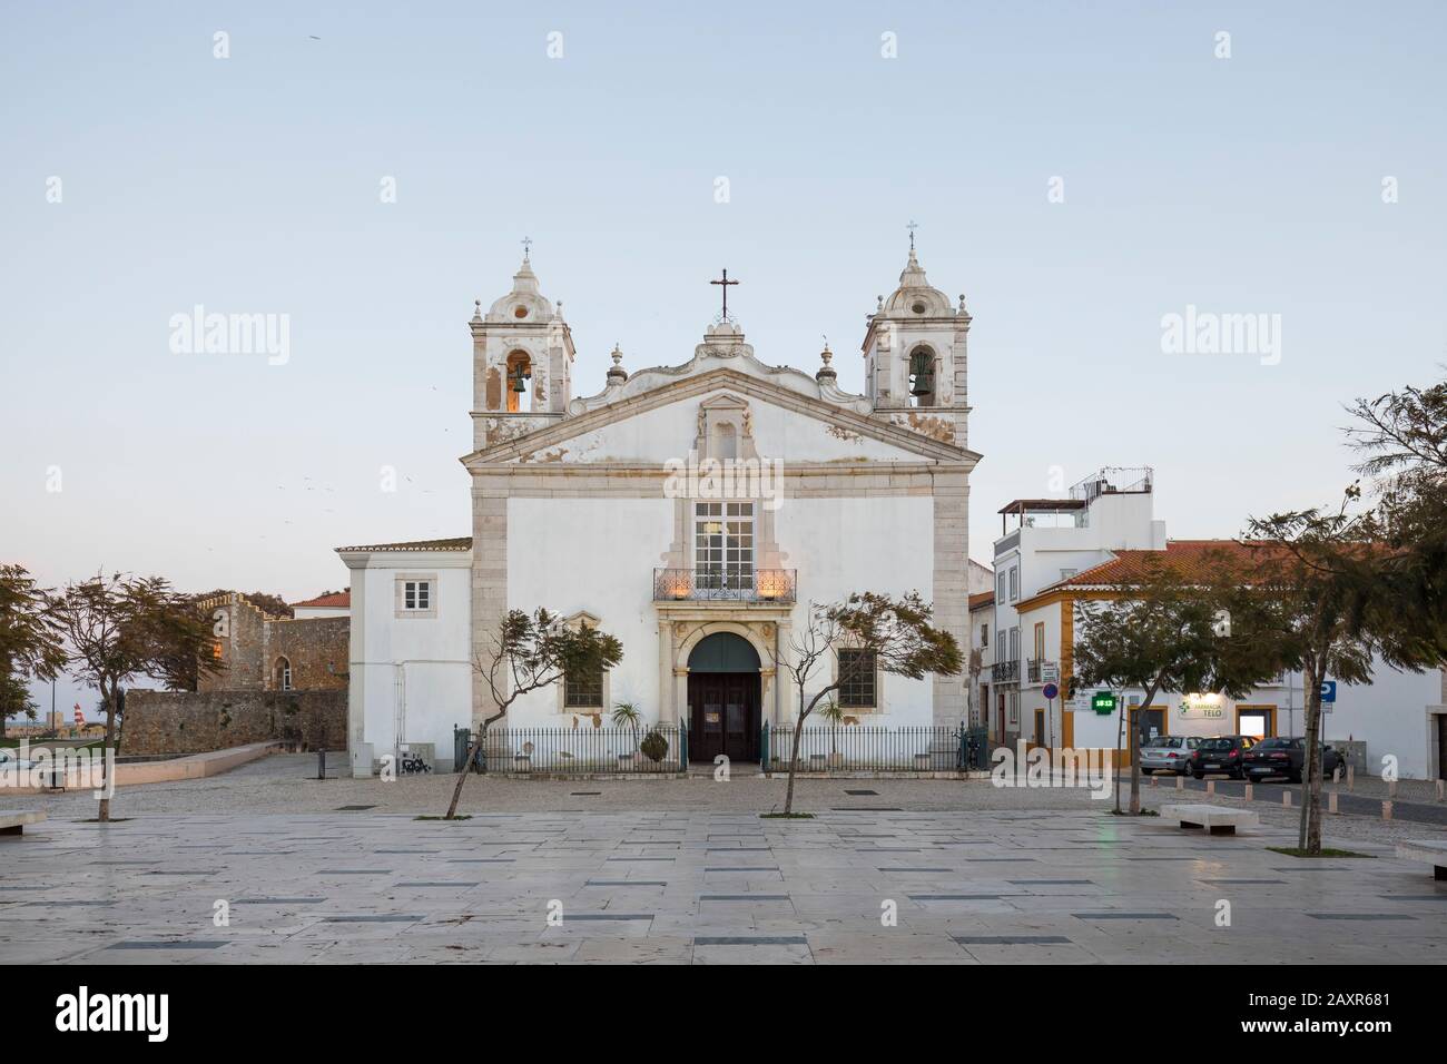
[[[1106,465],[1155,466],[1176,537],[1334,499],[1341,404],[1447,360],[1444,36],[1441,3],[12,0],[0,557],[298,599],[336,546],[467,534],[466,321],[524,236],[574,394],[615,342],[686,360],[724,266],[763,360],[826,334],[860,389],[917,221],[975,317],[981,560]],[[287,362],[174,353],[197,304],[289,316]],[[1163,353],[1188,304],[1279,314],[1279,362]]]

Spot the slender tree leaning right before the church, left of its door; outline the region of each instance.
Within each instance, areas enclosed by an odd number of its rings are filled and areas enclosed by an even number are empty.
[[[467,760],[457,773],[451,803],[446,819],[457,815],[462,786],[467,782],[467,767],[483,748],[488,728],[506,715],[522,695],[550,688],[567,673],[592,673],[612,669],[624,660],[624,646],[618,637],[589,628],[570,628],[557,615],[538,608],[534,614],[509,609],[488,637],[488,647],[472,663],[473,672],[488,688],[495,712],[485,717],[467,748]]]

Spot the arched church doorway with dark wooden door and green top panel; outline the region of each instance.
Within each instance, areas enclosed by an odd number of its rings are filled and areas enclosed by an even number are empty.
[[[716,631],[689,654],[689,760],[758,760],[758,651]]]

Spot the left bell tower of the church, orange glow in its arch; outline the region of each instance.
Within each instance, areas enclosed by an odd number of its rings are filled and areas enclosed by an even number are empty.
[[[473,447],[482,449],[561,418],[572,398],[573,333],[538,291],[530,250],[512,290],[472,321]]]

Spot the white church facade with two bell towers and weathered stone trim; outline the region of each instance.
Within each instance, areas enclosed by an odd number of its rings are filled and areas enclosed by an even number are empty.
[[[601,627],[624,659],[524,695],[508,727],[628,702],[687,725],[696,760],[754,760],[760,727],[794,718],[777,664],[810,602],[919,591],[968,650],[969,323],[912,248],[867,318],[862,395],[828,349],[813,373],[757,358],[726,297],[690,359],[629,373],[615,349],[603,389],[574,395],[572,330],[525,258],[469,323],[472,536],[339,549],[359,770],[404,744],[451,767],[453,728],[495,711],[473,669],[509,609]],[[857,672],[839,702],[860,724],[967,715],[967,676]]]

